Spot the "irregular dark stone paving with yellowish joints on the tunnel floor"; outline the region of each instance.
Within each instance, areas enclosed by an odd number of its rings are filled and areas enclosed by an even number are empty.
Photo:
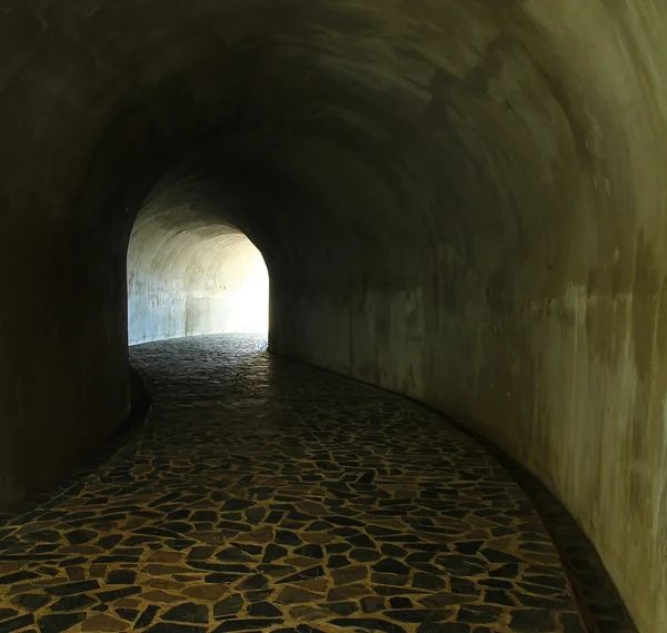
[[[475,441],[259,338],[136,347],[112,458],[0,525],[0,633],[583,633],[558,555]]]

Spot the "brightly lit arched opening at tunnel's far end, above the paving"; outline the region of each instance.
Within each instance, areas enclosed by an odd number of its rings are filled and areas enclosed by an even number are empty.
[[[269,276],[258,248],[215,209],[140,211],[128,247],[130,345],[205,334],[268,334]]]

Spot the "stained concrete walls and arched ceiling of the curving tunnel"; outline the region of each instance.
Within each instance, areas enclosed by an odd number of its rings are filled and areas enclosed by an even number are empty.
[[[499,446],[665,630],[664,2],[0,8],[4,506],[130,415],[128,343],[211,330],[187,259],[247,236],[273,355]]]

